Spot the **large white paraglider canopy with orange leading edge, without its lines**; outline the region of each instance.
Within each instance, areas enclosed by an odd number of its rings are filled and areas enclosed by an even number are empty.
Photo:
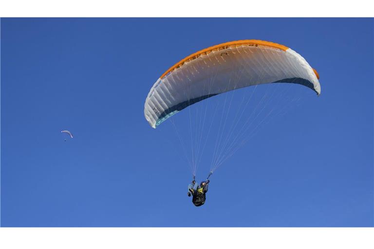
[[[318,72],[286,46],[262,40],[230,41],[193,53],[164,72],[150,89],[144,116],[156,128],[197,102],[261,84],[294,83],[319,95],[318,78]]]

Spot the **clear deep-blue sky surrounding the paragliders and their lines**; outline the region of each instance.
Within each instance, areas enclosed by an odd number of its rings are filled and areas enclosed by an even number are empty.
[[[369,18],[2,18],[1,226],[372,227],[373,30]],[[144,101],[180,59],[238,39],[300,53],[321,95],[263,125],[196,208],[175,132],[152,129]]]

